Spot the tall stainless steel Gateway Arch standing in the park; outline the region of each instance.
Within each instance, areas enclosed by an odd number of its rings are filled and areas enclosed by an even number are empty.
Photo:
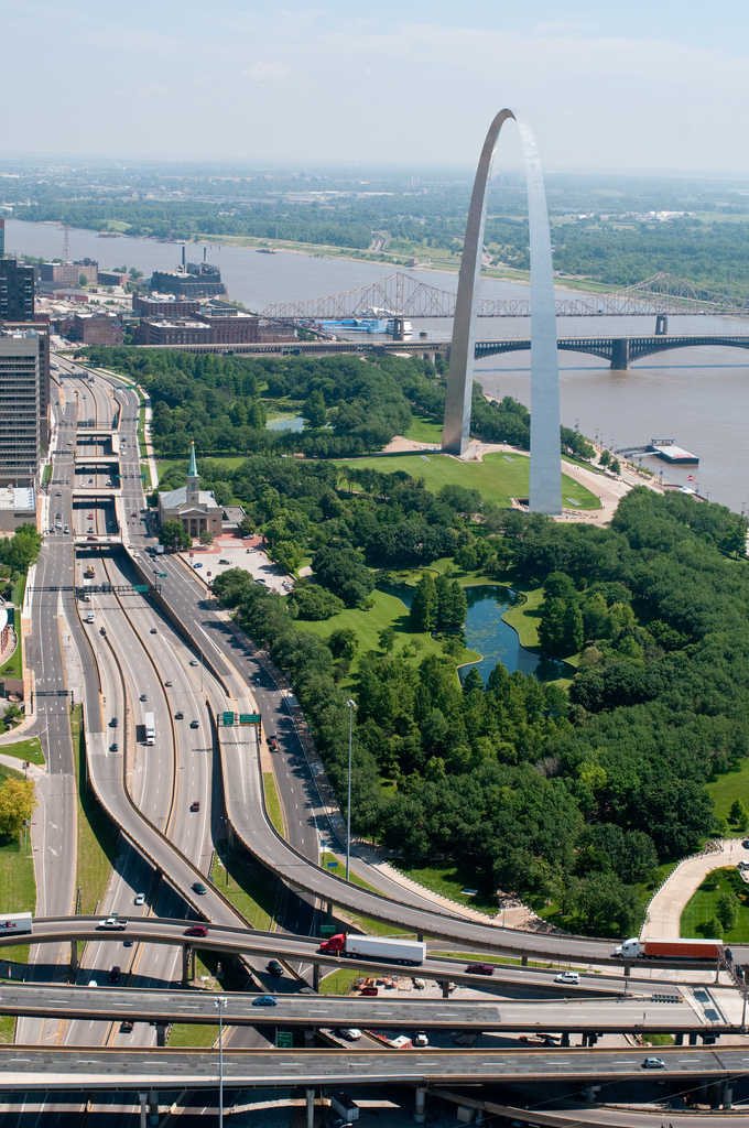
[[[490,126],[470,197],[456,299],[442,450],[462,455],[469,441],[486,192],[496,142],[508,118],[520,131],[530,228],[530,510],[556,514],[562,512],[559,372],[548,212],[536,140],[525,118],[511,109],[500,111]]]

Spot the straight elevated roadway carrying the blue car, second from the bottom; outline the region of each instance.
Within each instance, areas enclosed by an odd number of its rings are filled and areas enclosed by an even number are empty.
[[[255,1005],[257,995],[227,996],[228,1025],[364,1026],[425,1030],[505,1030],[539,1033],[735,1033],[741,1028],[741,1003],[728,989],[711,996],[715,1019],[691,999],[653,1002],[651,996],[615,999],[422,999],[397,993],[382,998],[328,995],[279,995],[274,1007]],[[690,993],[688,993],[690,994]],[[274,996],[275,997],[275,996]],[[729,1017],[726,1012],[732,1013]],[[155,990],[123,987],[58,987],[49,984],[5,984],[0,1013],[34,1017],[127,1019],[141,1022],[215,1023],[215,996],[208,992]],[[719,1013],[722,1015],[719,1017]]]

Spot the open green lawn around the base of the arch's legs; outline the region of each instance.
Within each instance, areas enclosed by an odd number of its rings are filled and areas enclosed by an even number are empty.
[[[508,461],[508,458],[512,461]],[[512,497],[527,497],[530,458],[527,455],[502,455],[493,451],[482,462],[462,462],[450,455],[385,455],[379,458],[351,458],[336,460],[345,483],[347,466],[365,467],[380,474],[405,470],[413,478],[424,478],[428,490],[438,493],[444,485],[478,490],[484,501],[509,509]],[[600,509],[601,503],[579,482],[562,475],[562,501],[570,508],[570,497],[580,502],[574,509]]]

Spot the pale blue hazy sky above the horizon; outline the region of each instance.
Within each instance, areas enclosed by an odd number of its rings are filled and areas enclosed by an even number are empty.
[[[749,2],[1,0],[6,153],[749,173]],[[6,100],[17,96],[17,113]],[[497,165],[517,162],[504,142]]]

